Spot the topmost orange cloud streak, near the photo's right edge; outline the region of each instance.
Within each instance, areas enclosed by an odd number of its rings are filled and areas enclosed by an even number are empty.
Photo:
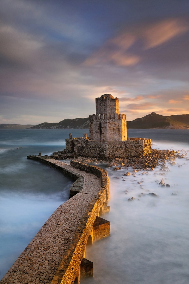
[[[171,38],[188,31],[189,27],[179,19],[168,19],[149,27],[143,36],[146,40],[146,49],[158,46]]]

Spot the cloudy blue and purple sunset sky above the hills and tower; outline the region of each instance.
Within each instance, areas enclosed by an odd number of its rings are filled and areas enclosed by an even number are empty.
[[[189,113],[188,0],[1,0],[0,123]]]

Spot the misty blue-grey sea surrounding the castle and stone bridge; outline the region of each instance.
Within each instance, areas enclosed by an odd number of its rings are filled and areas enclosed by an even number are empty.
[[[69,198],[72,181],[27,155],[63,150],[69,133],[84,132],[89,134],[88,129],[0,130],[0,279]],[[128,129],[128,137],[151,138],[152,148],[173,149],[182,158],[135,177],[131,168],[114,171],[96,164],[110,179],[110,213],[103,218],[110,221],[111,235],[87,247],[94,277],[80,283],[188,284],[189,130]],[[131,175],[123,176],[126,172]],[[162,179],[170,187],[159,185]],[[152,192],[158,196],[148,195]]]

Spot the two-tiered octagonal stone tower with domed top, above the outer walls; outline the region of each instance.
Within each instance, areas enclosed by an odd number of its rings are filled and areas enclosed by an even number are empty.
[[[119,99],[110,94],[96,98],[96,114],[89,115],[89,139],[127,140],[126,115],[119,113]]]

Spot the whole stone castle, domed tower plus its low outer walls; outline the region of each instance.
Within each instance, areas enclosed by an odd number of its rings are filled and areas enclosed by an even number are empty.
[[[126,115],[111,94],[96,98],[96,114],[89,115],[89,137],[66,139],[66,151],[103,160],[138,157],[151,153],[151,139],[127,137]]]

